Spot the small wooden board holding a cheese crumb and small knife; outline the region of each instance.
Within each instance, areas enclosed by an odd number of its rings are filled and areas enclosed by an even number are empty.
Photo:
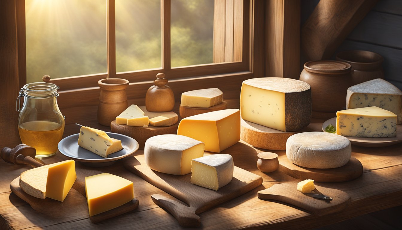
[[[332,201],[309,197],[297,191],[297,182],[274,184],[268,189],[258,191],[258,198],[281,201],[307,210],[314,215],[327,215],[342,211],[351,202],[349,194],[338,189],[330,189],[318,185],[316,185],[316,189],[313,192],[332,197]]]

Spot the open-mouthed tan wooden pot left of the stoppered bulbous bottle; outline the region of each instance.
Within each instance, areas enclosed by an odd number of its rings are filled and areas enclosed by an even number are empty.
[[[116,120],[128,107],[127,88],[129,81],[121,78],[108,78],[98,81],[100,87],[98,122],[110,126],[110,122]]]

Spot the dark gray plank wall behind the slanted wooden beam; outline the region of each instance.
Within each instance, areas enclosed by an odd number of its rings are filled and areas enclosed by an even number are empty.
[[[303,1],[302,25],[318,2]],[[380,0],[343,41],[336,53],[344,50],[368,50],[381,54],[384,57],[386,80],[402,89],[402,0]]]

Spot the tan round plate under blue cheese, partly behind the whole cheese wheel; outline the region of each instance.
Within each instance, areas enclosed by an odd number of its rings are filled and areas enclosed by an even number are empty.
[[[336,126],[336,117],[326,120],[322,123],[322,131],[325,132],[326,126],[332,124]],[[402,142],[402,128],[396,129],[396,137],[346,137],[352,143],[352,145],[358,145],[363,147],[384,147],[395,145]]]

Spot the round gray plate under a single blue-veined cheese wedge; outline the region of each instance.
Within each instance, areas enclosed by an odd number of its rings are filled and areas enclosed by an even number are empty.
[[[62,139],[57,147],[59,148],[60,153],[66,157],[92,167],[109,166],[115,163],[116,160],[132,155],[138,150],[139,145],[135,139],[118,133],[106,133],[111,138],[121,140],[121,145],[123,146],[123,149],[108,155],[107,158],[103,158],[100,155],[96,155],[95,153],[80,147],[78,145],[78,133]]]

